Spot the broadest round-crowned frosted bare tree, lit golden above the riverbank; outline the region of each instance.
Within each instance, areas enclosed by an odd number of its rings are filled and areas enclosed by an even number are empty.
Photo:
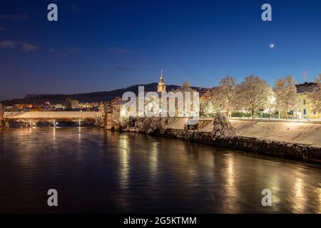
[[[273,90],[266,81],[258,76],[248,76],[236,86],[238,108],[248,110],[252,118],[259,110],[268,108],[271,104]]]

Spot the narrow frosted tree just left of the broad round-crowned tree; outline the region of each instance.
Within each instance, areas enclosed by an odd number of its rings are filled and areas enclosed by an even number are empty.
[[[230,117],[230,112],[235,107],[235,87],[236,79],[226,76],[220,81],[218,90],[215,90],[217,92],[215,94],[215,100],[223,112],[227,113],[228,117]]]

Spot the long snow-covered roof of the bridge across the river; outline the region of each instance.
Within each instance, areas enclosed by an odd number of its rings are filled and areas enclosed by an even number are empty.
[[[5,112],[4,119],[91,119],[99,112]]]

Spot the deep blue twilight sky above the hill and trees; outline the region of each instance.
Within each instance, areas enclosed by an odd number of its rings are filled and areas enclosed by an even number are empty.
[[[58,5],[49,22],[47,5]],[[261,6],[272,5],[272,21]],[[4,42],[6,41],[6,42]],[[270,43],[275,48],[270,48]],[[320,1],[0,1],[0,100],[321,73]]]

